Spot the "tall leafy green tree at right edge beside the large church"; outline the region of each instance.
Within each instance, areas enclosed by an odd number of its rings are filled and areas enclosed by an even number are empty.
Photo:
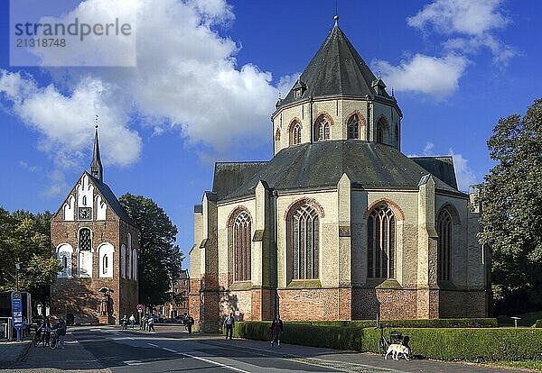
[[[542,99],[500,119],[488,148],[497,164],[481,188],[481,242],[492,250],[495,311],[542,309]]]

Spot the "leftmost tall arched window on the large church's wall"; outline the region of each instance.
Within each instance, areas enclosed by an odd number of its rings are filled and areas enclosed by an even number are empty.
[[[247,211],[241,210],[232,225],[234,280],[250,280],[250,250],[252,221]]]

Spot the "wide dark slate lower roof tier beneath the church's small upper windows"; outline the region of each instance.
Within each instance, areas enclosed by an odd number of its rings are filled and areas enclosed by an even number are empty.
[[[354,187],[417,189],[420,178],[429,173],[391,146],[359,140],[304,143],[279,151],[259,167],[242,168],[242,163],[235,163],[229,168],[236,169],[234,165],[238,165],[238,173],[246,171],[243,177],[235,176],[242,183],[232,183],[226,172],[215,168],[213,187],[215,192],[220,190],[220,200],[253,195],[260,179],[279,191],[318,189],[335,187],[346,173]],[[434,177],[436,189],[458,192]]]

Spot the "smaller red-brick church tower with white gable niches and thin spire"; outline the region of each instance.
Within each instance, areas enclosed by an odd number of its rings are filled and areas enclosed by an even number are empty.
[[[90,173],[51,219],[51,246],[62,266],[51,286],[51,314],[71,323],[119,323],[135,314],[138,234],[104,183],[97,126]]]

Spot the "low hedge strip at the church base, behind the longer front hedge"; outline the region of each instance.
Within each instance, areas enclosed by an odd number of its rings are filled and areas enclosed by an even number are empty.
[[[321,326],[360,327],[371,328],[376,325],[374,320],[354,321],[313,321],[313,322],[290,322],[304,323]],[[499,326],[497,319],[422,319],[422,320],[388,320],[383,324],[390,328],[496,328]]]

